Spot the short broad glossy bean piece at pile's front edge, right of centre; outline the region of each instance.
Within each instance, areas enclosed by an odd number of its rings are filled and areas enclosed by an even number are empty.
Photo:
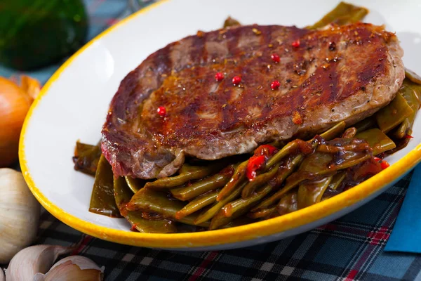
[[[309,207],[313,204],[319,203],[323,193],[328,188],[333,176],[327,176],[318,181],[306,181],[300,184],[297,193],[298,209]]]

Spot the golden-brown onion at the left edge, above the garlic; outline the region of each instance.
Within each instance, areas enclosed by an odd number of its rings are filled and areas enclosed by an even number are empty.
[[[0,77],[0,167],[18,160],[20,129],[31,105],[31,98],[4,77]]]

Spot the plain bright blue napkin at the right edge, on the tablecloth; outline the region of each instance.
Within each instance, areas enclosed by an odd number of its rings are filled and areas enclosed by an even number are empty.
[[[414,169],[385,251],[421,253],[421,164]]]

